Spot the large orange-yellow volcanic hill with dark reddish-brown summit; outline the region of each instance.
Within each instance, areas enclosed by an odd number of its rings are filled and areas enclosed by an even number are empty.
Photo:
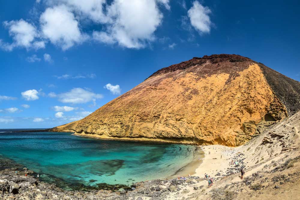
[[[52,131],[103,139],[237,146],[300,109],[300,83],[239,55],[171,65]]]

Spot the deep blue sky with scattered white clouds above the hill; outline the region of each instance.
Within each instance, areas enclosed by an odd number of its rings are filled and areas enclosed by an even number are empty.
[[[0,0],[0,128],[85,117],[171,64],[239,54],[300,80],[298,1]]]

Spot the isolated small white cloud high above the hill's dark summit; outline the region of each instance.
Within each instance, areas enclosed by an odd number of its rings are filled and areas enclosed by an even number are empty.
[[[211,10],[208,7],[203,7],[199,1],[194,1],[193,6],[187,11],[190,18],[191,25],[201,34],[209,33],[211,28],[211,21],[209,14]]]

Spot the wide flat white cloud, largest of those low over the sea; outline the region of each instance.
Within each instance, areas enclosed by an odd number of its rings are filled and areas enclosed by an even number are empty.
[[[63,103],[87,103],[103,98],[102,94],[95,94],[82,88],[73,88],[69,92],[58,94],[57,97]]]

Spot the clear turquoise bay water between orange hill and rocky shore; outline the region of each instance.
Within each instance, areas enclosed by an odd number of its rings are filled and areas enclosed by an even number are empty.
[[[0,133],[0,156],[67,190],[166,178],[190,163],[195,150],[192,145],[97,140],[71,133]]]

